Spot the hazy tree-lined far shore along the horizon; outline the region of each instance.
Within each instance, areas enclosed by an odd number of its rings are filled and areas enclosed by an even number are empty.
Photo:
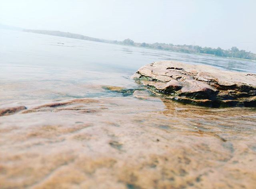
[[[102,43],[114,43],[119,45],[131,45],[137,47],[147,47],[152,49],[162,49],[166,51],[175,51],[175,52],[183,52],[183,53],[204,53],[210,54],[220,57],[235,57],[242,59],[250,59],[256,60],[256,54],[251,53],[250,51],[239,50],[237,47],[232,47],[231,49],[224,50],[220,47],[214,49],[211,47],[200,47],[198,45],[173,45],[172,43],[135,43],[131,39],[124,39],[124,41],[116,41],[116,40],[106,40],[106,39],[98,39],[94,37],[88,37],[85,35],[80,35],[76,33],[69,32],[60,32],[60,31],[49,31],[49,30],[23,30],[24,32],[33,32],[33,33],[41,33],[46,35],[56,35],[61,37],[70,37],[75,39],[83,39],[88,41],[98,41]]]

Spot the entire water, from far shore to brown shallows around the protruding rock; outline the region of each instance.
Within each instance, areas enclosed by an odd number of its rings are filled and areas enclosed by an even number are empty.
[[[0,116],[0,188],[256,185],[255,108],[166,101],[130,79],[158,60],[255,62],[8,30],[0,44],[0,108],[27,108]]]

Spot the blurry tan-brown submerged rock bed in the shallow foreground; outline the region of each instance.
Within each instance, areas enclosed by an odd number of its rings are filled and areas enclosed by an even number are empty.
[[[1,189],[256,186],[255,108],[163,102],[146,91],[19,105],[27,109],[2,107],[0,116]]]

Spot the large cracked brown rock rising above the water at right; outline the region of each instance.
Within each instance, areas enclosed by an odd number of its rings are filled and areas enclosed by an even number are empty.
[[[133,78],[166,99],[203,106],[256,106],[256,74],[158,61],[138,69]]]

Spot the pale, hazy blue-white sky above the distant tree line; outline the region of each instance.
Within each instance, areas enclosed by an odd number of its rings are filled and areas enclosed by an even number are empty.
[[[256,0],[0,0],[0,23],[256,53]]]

